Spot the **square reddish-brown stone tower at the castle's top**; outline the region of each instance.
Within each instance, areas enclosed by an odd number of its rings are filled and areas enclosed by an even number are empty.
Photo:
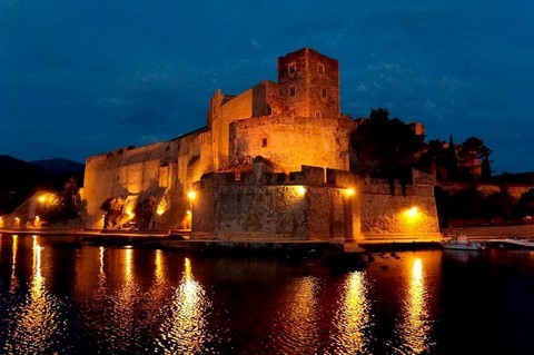
[[[278,58],[278,83],[295,117],[339,118],[339,63],[303,48]]]

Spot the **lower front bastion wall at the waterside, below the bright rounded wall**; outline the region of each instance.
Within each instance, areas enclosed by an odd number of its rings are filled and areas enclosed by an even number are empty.
[[[353,230],[357,196],[325,183],[323,168],[307,167],[281,183],[280,176],[250,172],[236,181],[215,174],[198,181],[192,238],[343,241],[359,233]],[[346,181],[355,184],[355,177]]]

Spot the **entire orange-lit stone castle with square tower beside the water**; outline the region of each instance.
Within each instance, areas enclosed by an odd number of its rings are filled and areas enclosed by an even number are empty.
[[[339,110],[338,61],[304,48],[277,82],[218,90],[207,126],[87,158],[90,228],[185,229],[191,238],[372,240],[438,235],[432,177],[392,191],[359,180]]]

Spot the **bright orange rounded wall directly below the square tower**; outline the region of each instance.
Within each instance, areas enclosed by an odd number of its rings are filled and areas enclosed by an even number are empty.
[[[300,166],[338,170],[349,168],[349,134],[354,122],[310,117],[269,116],[230,124],[234,161],[261,156],[277,170],[298,171]]]

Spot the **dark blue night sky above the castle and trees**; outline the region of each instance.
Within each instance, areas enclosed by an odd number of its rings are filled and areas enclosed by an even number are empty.
[[[0,154],[83,162],[180,136],[217,89],[310,47],[339,60],[343,112],[387,108],[533,171],[533,19],[520,0],[0,1]]]

